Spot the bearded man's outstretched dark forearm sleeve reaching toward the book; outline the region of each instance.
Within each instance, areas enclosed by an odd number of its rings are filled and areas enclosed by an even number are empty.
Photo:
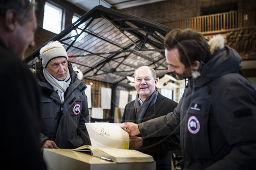
[[[183,100],[183,97],[181,98]],[[180,133],[180,104],[164,116],[138,124],[143,139]]]

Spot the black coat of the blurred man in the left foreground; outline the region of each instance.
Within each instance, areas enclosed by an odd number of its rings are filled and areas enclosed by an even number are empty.
[[[39,89],[32,72],[21,63],[0,64],[2,162],[8,169],[46,169],[39,145]]]

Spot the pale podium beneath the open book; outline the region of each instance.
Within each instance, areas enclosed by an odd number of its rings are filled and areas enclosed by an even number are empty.
[[[70,149],[45,149],[44,160],[49,170],[85,170],[85,169],[156,169],[156,162],[116,163],[102,160]]]

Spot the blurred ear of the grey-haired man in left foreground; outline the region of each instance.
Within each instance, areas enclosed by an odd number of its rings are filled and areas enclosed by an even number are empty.
[[[5,28],[10,32],[14,31],[18,23],[17,12],[12,9],[7,10],[4,18]]]

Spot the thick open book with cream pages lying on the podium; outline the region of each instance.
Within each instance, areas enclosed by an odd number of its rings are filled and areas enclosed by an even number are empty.
[[[73,151],[88,152],[103,160],[124,162],[153,162],[151,155],[129,149],[129,135],[122,124],[86,123],[92,145],[83,145]]]

